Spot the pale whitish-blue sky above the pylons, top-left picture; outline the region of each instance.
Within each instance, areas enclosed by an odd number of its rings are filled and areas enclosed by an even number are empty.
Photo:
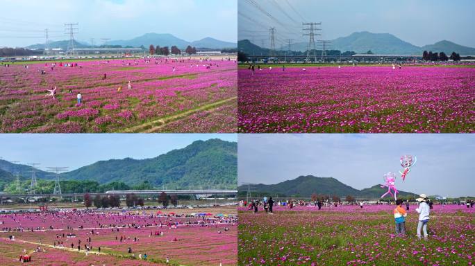
[[[65,23],[78,23],[76,39],[132,39],[171,33],[187,41],[213,37],[236,42],[238,0],[1,0],[0,46],[67,39]]]

